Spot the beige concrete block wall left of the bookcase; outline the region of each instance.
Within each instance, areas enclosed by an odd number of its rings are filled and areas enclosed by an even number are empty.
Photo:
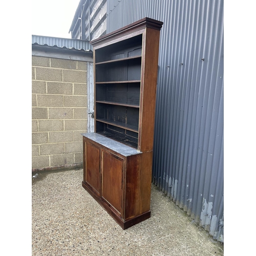
[[[82,166],[87,62],[32,56],[32,171]]]

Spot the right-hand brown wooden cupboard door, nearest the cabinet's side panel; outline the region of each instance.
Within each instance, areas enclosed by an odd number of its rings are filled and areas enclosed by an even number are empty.
[[[123,199],[123,159],[102,150],[102,198],[121,215]]]

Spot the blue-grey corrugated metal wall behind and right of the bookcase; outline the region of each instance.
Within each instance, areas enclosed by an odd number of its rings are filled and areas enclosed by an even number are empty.
[[[108,0],[110,33],[145,16],[160,36],[153,183],[223,238],[223,0]]]

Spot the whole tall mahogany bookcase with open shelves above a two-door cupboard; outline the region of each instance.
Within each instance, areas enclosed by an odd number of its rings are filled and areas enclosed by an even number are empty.
[[[123,229],[151,215],[162,24],[145,17],[91,41],[95,132],[82,134],[82,186]]]

